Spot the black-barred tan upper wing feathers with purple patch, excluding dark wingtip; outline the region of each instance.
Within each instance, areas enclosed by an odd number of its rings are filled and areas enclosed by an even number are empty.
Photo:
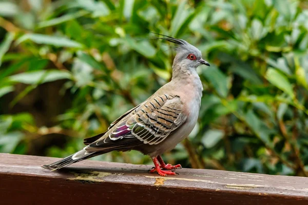
[[[180,97],[164,94],[135,109],[132,116],[122,121],[109,137],[114,140],[119,137],[136,137],[144,144],[156,145],[185,120]]]

